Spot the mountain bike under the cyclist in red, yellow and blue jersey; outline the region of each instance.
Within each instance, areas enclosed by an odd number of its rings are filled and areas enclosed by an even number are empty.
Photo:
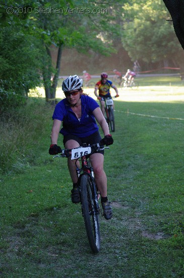
[[[115,98],[115,97],[113,97]],[[112,132],[115,131],[115,122],[114,122],[114,109],[113,109],[113,100],[111,97],[104,98],[105,100],[105,114],[106,114],[106,121],[108,123],[109,129]]]

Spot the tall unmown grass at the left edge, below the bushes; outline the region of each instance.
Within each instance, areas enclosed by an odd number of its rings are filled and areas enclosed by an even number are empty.
[[[43,136],[50,108],[45,102],[29,100],[27,105],[4,114],[0,121],[0,177],[26,170],[33,163],[38,140]],[[38,147],[36,148],[36,145]]]

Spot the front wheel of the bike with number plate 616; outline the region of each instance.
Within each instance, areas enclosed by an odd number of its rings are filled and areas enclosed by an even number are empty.
[[[100,228],[98,212],[95,208],[95,194],[90,177],[86,174],[80,179],[81,207],[84,223],[91,250],[98,253],[100,250]],[[98,202],[98,201],[97,201]]]

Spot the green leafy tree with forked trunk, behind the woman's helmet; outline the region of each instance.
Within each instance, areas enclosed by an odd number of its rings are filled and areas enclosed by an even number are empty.
[[[61,6],[52,1],[47,3],[47,9],[52,9],[49,14],[40,13],[35,17],[36,31],[41,37],[43,44],[43,80],[45,85],[46,100],[54,103],[55,91],[60,69],[62,51],[66,48],[75,48],[77,51],[87,53],[89,50],[110,55],[114,52],[110,34],[117,33],[112,15],[96,14],[96,11],[105,12],[106,5],[78,1],[76,6],[70,3],[70,7]],[[62,8],[63,7],[63,8]],[[94,8],[96,7],[96,8]],[[54,11],[61,10],[60,13]],[[95,12],[94,12],[95,9]],[[110,23],[110,24],[109,24]],[[55,45],[58,49],[55,69],[51,61],[50,46]],[[52,76],[52,81],[50,81]]]

